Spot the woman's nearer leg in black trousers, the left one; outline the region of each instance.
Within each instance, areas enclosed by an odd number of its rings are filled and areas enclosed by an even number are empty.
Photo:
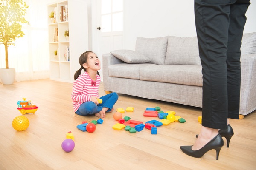
[[[230,4],[225,1],[195,0],[203,74],[202,126],[213,129],[227,128],[226,59]]]

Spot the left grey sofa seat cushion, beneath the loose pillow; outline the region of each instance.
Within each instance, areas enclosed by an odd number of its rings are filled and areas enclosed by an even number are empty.
[[[143,64],[114,64],[108,66],[108,75],[110,77],[122,77],[128,79],[139,79],[139,69],[148,65],[154,65],[149,63]]]

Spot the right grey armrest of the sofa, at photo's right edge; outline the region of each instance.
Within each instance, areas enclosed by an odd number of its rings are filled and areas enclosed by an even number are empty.
[[[244,54],[240,61],[240,102],[243,102],[240,104],[240,114],[246,115],[256,109],[256,54]]]

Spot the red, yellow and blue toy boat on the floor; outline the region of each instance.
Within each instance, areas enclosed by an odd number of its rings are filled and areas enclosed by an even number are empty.
[[[20,111],[21,114],[26,114],[26,113],[35,113],[38,109],[38,106],[32,105],[31,100],[26,101],[26,98],[22,98],[23,101],[18,101],[18,110]]]

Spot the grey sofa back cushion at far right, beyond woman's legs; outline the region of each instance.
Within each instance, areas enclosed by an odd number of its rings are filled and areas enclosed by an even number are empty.
[[[256,32],[243,34],[241,55],[256,54]]]

